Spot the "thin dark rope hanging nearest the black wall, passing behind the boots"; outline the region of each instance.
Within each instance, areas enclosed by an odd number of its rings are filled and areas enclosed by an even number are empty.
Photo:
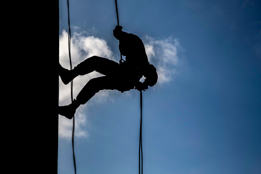
[[[73,69],[73,66],[72,66],[72,60],[71,60],[71,28],[70,28],[70,15],[69,15],[69,0],[67,0],[67,7],[68,7],[68,25],[69,25],[68,48],[69,48],[70,70],[72,70],[72,69]],[[73,80],[71,81],[71,100],[72,100],[72,102],[73,102]],[[75,172],[75,174],[76,174],[76,163],[75,163],[75,156],[74,156],[74,115],[73,115],[72,145],[73,145],[73,164],[74,164],[74,172]]]

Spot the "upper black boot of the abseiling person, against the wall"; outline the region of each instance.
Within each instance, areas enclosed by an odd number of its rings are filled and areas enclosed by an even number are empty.
[[[61,66],[61,64],[59,63],[59,76],[61,77],[62,82],[64,84],[67,85],[68,83],[70,83],[70,81],[72,81],[78,75],[79,74],[77,73],[77,70],[75,69],[75,67],[73,70],[69,70],[69,69],[63,68]]]

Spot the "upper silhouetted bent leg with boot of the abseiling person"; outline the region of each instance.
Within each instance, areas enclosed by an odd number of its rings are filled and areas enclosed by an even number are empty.
[[[59,63],[59,76],[64,84],[68,84],[75,77],[97,71],[104,75],[111,75],[117,69],[118,63],[103,57],[92,56],[79,63],[72,70],[63,68]]]

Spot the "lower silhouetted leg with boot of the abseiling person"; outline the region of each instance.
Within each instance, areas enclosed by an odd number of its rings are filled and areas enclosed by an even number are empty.
[[[66,118],[72,119],[76,109],[80,105],[84,105],[89,101],[97,92],[103,89],[118,89],[120,82],[116,78],[109,76],[97,77],[89,80],[89,82],[79,92],[76,100],[72,104],[67,106],[59,106],[58,113]]]

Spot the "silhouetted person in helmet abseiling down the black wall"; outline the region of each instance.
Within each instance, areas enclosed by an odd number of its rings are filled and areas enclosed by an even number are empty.
[[[59,63],[59,76],[64,84],[93,71],[105,75],[89,80],[70,105],[59,106],[60,115],[72,119],[76,109],[100,90],[116,89],[124,92],[135,88],[142,91],[157,83],[156,68],[149,63],[142,40],[134,34],[123,32],[122,26],[118,25],[113,30],[113,35],[119,40],[120,53],[126,56],[126,61],[119,64],[103,57],[92,56],[72,70],[63,68]],[[139,82],[142,76],[146,78],[143,83]]]

